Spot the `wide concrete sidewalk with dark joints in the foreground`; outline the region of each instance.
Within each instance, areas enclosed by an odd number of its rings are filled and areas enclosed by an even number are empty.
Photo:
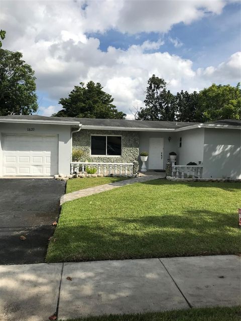
[[[1,321],[239,303],[236,255],[0,265]]]

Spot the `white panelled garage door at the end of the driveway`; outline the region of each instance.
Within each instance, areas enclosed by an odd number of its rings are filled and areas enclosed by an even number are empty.
[[[52,176],[58,173],[57,136],[4,135],[5,176]]]

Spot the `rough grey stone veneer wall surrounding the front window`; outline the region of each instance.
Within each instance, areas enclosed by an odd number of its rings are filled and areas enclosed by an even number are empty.
[[[116,135],[122,136],[121,156],[91,156],[90,137],[91,135]],[[80,148],[85,151],[86,156],[82,161],[101,163],[133,163],[139,157],[139,134],[135,131],[114,131],[114,130],[89,130],[81,129],[73,133],[73,148]]]

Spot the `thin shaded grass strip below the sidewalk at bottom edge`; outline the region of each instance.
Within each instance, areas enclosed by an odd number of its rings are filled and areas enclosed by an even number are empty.
[[[80,317],[66,321],[240,321],[240,307],[206,307],[165,312]]]

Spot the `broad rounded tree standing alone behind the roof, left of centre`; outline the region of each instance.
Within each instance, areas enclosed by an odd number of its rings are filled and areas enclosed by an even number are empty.
[[[112,118],[125,119],[126,114],[118,111],[112,104],[113,98],[102,90],[100,83],[89,81],[84,86],[75,86],[68,98],[61,98],[59,103],[63,109],[53,116],[80,118]]]

